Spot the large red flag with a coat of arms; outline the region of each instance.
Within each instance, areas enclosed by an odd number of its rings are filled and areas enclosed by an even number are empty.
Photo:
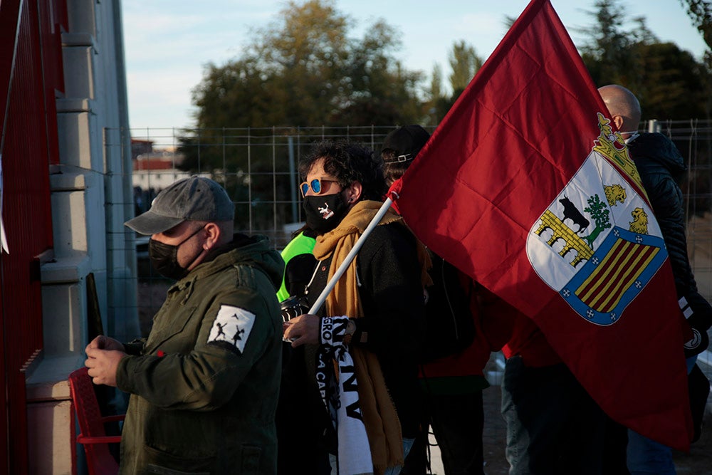
[[[533,0],[392,191],[422,241],[533,318],[610,417],[689,450],[661,232],[548,0]]]

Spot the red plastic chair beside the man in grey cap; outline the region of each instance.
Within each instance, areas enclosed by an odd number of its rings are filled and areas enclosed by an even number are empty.
[[[84,447],[89,475],[117,474],[119,464],[109,451],[109,444],[121,442],[121,436],[106,435],[104,424],[123,420],[125,415],[101,415],[94,385],[86,367],[69,375],[69,388],[79,422],[77,442]]]

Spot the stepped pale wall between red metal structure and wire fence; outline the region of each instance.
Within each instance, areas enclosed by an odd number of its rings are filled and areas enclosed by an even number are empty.
[[[60,164],[51,167],[54,260],[42,266],[42,359],[27,380],[28,419],[70,421],[66,378],[83,365],[93,273],[104,333],[140,336],[120,0],[68,0],[64,95],[57,98]],[[47,456],[51,441],[52,456]],[[32,471],[72,473],[71,424],[31,424]],[[78,449],[81,453],[81,449]]]

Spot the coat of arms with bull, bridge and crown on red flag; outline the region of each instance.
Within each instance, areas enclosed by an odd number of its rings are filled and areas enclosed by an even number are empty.
[[[578,315],[612,325],[667,252],[624,141],[601,113],[598,121],[590,154],[533,224],[527,255]]]

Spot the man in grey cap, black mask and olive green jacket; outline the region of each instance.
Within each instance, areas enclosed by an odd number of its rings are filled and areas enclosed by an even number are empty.
[[[177,282],[148,338],[86,348],[95,384],[131,395],[122,474],[276,473],[284,262],[266,237],[233,236],[233,219],[219,184],[190,177],[125,223]]]

